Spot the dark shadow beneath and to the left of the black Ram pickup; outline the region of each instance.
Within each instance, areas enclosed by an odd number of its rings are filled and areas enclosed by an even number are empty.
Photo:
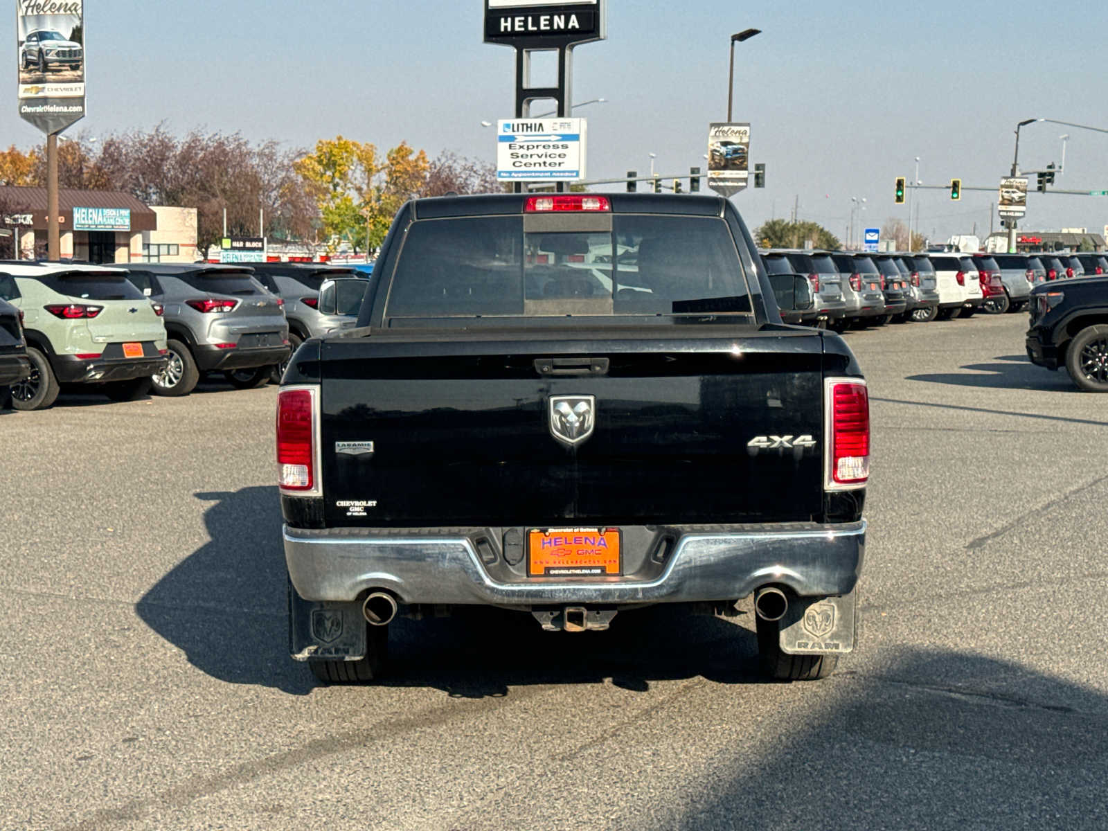
[[[288,655],[286,568],[277,489],[196,493],[211,541],[143,595],[138,616],[197,669],[228,684],[307,695],[317,685]],[[388,686],[456,698],[510,687],[604,683],[647,691],[652,680],[704,676],[758,684],[749,616],[736,623],[684,607],[623,612],[607,632],[547,633],[529,614],[474,607],[390,627]]]

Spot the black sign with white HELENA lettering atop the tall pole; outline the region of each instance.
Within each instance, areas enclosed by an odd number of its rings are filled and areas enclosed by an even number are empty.
[[[485,0],[485,43],[534,49],[605,38],[604,0]]]

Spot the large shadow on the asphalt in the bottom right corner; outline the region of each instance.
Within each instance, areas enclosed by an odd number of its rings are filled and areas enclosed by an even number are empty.
[[[1102,693],[951,650],[883,657],[820,681],[831,705],[757,758],[717,758],[710,787],[658,827],[1108,828]]]

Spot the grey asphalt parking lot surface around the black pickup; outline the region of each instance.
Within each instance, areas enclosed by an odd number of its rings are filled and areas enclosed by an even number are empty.
[[[0,414],[0,829],[1108,827],[1108,397],[1026,315],[849,332],[860,652],[763,683],[750,616],[394,625],[289,660],[276,388]]]

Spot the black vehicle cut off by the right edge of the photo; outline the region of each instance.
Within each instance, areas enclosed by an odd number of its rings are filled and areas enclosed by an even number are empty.
[[[1030,316],[1032,363],[1064,366],[1078,389],[1108,392],[1108,276],[1036,286]]]

